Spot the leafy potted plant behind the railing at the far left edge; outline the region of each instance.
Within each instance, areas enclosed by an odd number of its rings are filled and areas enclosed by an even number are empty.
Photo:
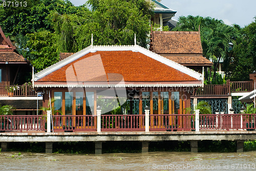
[[[14,108],[11,105],[3,105],[0,106],[0,115],[12,115]],[[8,124],[8,119],[6,117],[1,117],[0,118],[0,132],[4,133],[5,132],[5,126]]]

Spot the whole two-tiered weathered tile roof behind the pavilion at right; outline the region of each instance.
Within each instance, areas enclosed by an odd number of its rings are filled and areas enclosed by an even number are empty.
[[[212,65],[203,57],[200,32],[153,31],[150,50],[184,66]]]

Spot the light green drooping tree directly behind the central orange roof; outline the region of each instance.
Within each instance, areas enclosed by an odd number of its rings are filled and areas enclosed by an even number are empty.
[[[133,45],[146,47],[153,6],[144,0],[89,0],[92,11],[83,9],[76,14],[52,13],[51,22],[58,35],[62,52],[75,52],[91,45]],[[64,46],[65,45],[65,46]]]

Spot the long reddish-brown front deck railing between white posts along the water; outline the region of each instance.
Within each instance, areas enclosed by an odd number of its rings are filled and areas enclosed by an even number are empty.
[[[145,115],[101,115],[101,131],[145,131]],[[247,130],[256,129],[256,114],[150,115],[150,131]],[[41,115],[0,116],[0,132],[47,131]],[[89,132],[97,130],[97,116],[54,115],[54,132]]]

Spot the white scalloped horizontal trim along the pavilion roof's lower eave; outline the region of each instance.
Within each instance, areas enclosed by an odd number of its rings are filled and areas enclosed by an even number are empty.
[[[37,88],[200,87],[202,84],[36,84]]]

